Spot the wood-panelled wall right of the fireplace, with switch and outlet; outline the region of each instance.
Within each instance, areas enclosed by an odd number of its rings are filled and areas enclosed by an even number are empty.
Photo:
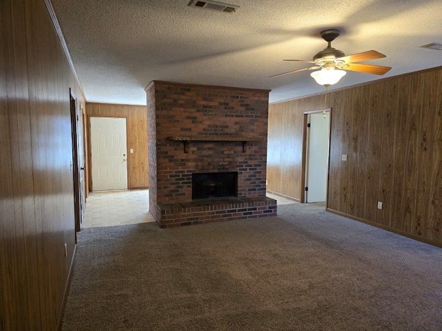
[[[271,104],[267,188],[300,199],[302,112],[332,108],[327,209],[442,245],[441,91],[435,68]]]

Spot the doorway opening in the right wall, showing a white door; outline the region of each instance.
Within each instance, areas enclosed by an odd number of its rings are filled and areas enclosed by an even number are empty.
[[[327,204],[331,109],[304,113],[304,178],[302,202]]]

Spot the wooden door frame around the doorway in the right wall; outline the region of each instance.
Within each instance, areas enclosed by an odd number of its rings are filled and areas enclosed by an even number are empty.
[[[304,123],[302,128],[304,128],[302,132],[302,176],[301,176],[301,197],[300,202],[306,203],[306,196],[305,196],[305,177],[307,176],[307,138],[308,138],[308,115],[309,114],[318,114],[321,112],[328,112],[330,114],[330,123],[329,123],[329,150],[328,150],[328,160],[327,160],[327,188],[325,190],[325,208],[328,207],[328,193],[329,193],[329,173],[330,173],[330,137],[332,137],[332,108],[324,108],[324,109],[316,109],[316,110],[307,110],[303,112],[304,114]]]

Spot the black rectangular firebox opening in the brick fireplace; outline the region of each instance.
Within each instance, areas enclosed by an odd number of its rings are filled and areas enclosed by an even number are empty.
[[[238,172],[192,174],[192,199],[238,197]]]

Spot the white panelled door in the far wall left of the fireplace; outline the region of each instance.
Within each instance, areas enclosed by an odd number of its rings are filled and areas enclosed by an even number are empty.
[[[93,191],[127,189],[126,119],[90,117]]]

